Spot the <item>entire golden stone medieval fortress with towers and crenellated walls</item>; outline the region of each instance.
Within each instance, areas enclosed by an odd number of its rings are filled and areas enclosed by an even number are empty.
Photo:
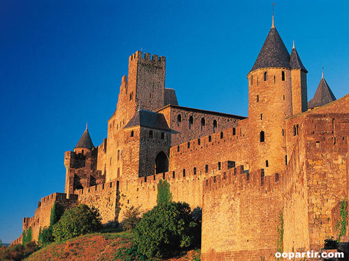
[[[129,56],[108,136],[95,146],[86,127],[64,155],[65,193],[41,198],[24,231],[36,240],[54,202],[121,221],[131,206],[156,205],[166,179],[174,201],[203,210],[203,260],[273,260],[280,217],[285,252],[318,250],[338,236],[349,193],[349,94],[336,100],[323,76],[308,102],[307,69],[274,22],[247,74],[248,118],[179,106],[165,67],[163,56]]]

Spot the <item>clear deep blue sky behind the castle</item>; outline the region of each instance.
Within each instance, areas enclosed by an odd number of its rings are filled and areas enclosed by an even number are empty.
[[[276,0],[275,25],[337,98],[349,92],[348,1]],[[21,233],[41,197],[64,192],[64,152],[86,122],[107,135],[128,56],[166,56],[182,106],[247,116],[247,80],[272,1],[0,0],[0,239]]]

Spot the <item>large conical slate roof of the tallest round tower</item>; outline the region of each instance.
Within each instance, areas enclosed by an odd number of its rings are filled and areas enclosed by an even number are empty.
[[[276,28],[271,27],[251,71],[267,67],[291,68],[290,54]]]

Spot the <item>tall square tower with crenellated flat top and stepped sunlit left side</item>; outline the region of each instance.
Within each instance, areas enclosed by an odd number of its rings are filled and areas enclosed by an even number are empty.
[[[156,111],[165,105],[165,70],[163,56],[143,56],[141,51],[129,56],[128,79],[122,77],[116,111],[108,120],[106,163],[98,166],[106,170],[107,180],[121,177],[126,165],[137,169],[132,162],[139,156],[139,144],[128,142],[130,133],[123,128],[139,110]],[[134,137],[139,138],[139,133],[134,132]]]

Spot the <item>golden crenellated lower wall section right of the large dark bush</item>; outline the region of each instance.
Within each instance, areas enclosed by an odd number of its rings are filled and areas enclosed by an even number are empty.
[[[274,260],[283,176],[240,169],[204,182],[202,260]]]

